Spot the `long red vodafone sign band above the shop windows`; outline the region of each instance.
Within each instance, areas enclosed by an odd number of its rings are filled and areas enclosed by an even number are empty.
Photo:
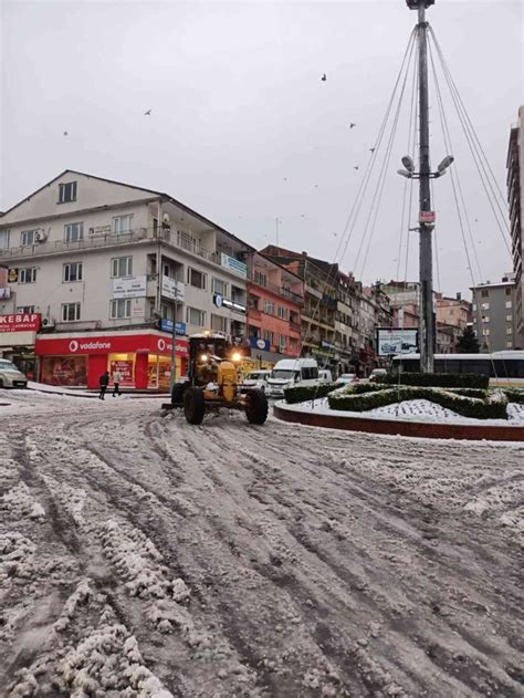
[[[177,340],[176,353],[186,356],[188,343]],[[52,338],[38,337],[34,352],[39,356],[71,354],[170,354],[171,341],[157,334],[108,335],[103,337]]]

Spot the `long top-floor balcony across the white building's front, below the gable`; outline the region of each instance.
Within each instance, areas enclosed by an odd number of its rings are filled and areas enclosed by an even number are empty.
[[[0,261],[15,259],[34,259],[35,257],[49,257],[52,254],[67,254],[76,251],[90,251],[104,248],[125,247],[134,242],[153,242],[148,238],[146,228],[137,228],[127,232],[104,232],[102,235],[87,235],[74,242],[66,240],[45,240],[28,247],[13,247],[0,250]]]

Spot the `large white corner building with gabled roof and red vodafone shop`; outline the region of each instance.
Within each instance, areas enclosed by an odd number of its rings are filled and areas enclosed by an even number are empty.
[[[164,192],[65,170],[0,218],[0,316],[33,319],[0,352],[46,383],[94,387],[118,366],[167,387],[174,337],[180,375],[187,334],[247,336],[253,251]]]

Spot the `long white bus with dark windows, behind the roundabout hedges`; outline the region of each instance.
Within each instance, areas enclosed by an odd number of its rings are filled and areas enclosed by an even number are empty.
[[[420,354],[394,356],[392,371],[420,371]],[[436,354],[436,373],[480,373],[490,376],[491,385],[524,386],[524,352],[506,351],[491,354]]]

